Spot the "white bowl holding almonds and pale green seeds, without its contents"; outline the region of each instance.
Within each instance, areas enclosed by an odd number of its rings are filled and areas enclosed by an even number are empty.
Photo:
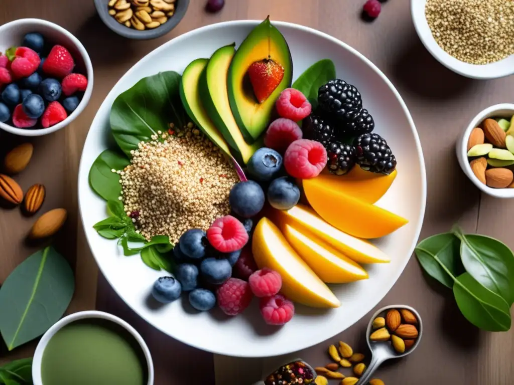
[[[478,178],[475,177],[471,166],[469,165],[468,158],[468,139],[471,130],[478,127],[487,118],[505,118],[508,121],[514,116],[514,104],[504,103],[497,104],[480,111],[469,123],[468,127],[464,130],[461,137],[457,140],[456,150],[458,163],[461,165],[464,174],[487,195],[495,198],[514,198],[514,188],[491,188],[483,184]]]

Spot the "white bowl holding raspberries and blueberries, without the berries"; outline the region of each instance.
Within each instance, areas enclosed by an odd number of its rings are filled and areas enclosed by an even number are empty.
[[[0,51],[5,52],[9,47],[20,46],[23,36],[29,32],[39,32],[45,37],[45,40],[66,47],[75,60],[74,71],[87,76],[87,88],[79,106],[62,122],[41,129],[17,128],[0,122],[0,128],[7,132],[22,137],[40,137],[66,127],[84,110],[91,98],[91,92],[93,92],[93,65],[86,49],[77,37],[63,27],[39,18],[22,18],[0,26]]]

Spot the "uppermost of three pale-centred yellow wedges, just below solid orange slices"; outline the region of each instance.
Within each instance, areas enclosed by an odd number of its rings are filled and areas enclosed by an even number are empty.
[[[311,233],[357,263],[390,262],[389,257],[377,246],[363,239],[343,233],[325,222],[308,206],[297,204],[289,210],[273,210],[271,213],[273,219],[282,226],[289,224],[300,229],[303,234]]]

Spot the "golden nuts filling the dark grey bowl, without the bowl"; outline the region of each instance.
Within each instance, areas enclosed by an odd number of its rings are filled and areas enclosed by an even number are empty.
[[[175,13],[176,0],[109,0],[109,15],[138,31],[159,27]]]

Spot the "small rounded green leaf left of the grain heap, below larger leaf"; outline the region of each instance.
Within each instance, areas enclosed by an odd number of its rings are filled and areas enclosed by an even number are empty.
[[[105,150],[91,165],[89,170],[89,185],[106,201],[118,200],[121,195],[120,176],[115,170],[122,170],[130,160],[119,151]]]

